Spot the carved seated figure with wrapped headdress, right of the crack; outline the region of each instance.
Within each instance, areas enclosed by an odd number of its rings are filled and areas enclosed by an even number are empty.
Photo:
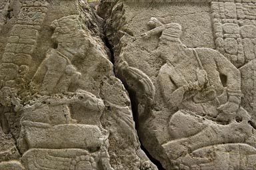
[[[235,157],[240,160],[243,155],[247,165],[255,166],[254,129],[251,117],[240,106],[239,70],[216,50],[187,48],[180,41],[181,25],[177,23],[162,25],[152,18],[149,25],[155,29],[142,36],[161,33],[155,53],[166,62],[157,77],[172,114],[168,121],[171,141],[162,145],[171,162],[179,169],[218,169],[223,168],[221,161],[227,163],[227,169],[243,169],[243,163],[233,165],[229,160],[232,147],[234,152],[250,150],[245,155],[235,153]],[[214,158],[210,152],[215,153]],[[229,155],[218,157],[223,153]]]

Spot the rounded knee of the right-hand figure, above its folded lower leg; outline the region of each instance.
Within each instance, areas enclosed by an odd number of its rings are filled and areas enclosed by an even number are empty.
[[[169,121],[169,133],[174,139],[189,137],[199,133],[204,127],[203,118],[186,114],[179,110]]]

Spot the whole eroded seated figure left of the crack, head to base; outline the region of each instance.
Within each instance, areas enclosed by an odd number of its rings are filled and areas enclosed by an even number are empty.
[[[100,118],[103,100],[85,90],[69,90],[81,77],[72,64],[85,56],[85,31],[79,15],[51,25],[57,48],[47,52],[31,86],[39,92],[21,118],[17,141],[26,169],[109,169],[108,132]]]

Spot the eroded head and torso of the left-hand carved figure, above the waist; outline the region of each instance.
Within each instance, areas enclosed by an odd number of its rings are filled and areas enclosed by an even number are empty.
[[[39,66],[32,82],[40,84],[39,90],[46,92],[67,92],[81,74],[71,63],[77,56],[85,54],[85,37],[77,16],[54,21],[52,36],[56,49],[48,50],[45,60]]]

